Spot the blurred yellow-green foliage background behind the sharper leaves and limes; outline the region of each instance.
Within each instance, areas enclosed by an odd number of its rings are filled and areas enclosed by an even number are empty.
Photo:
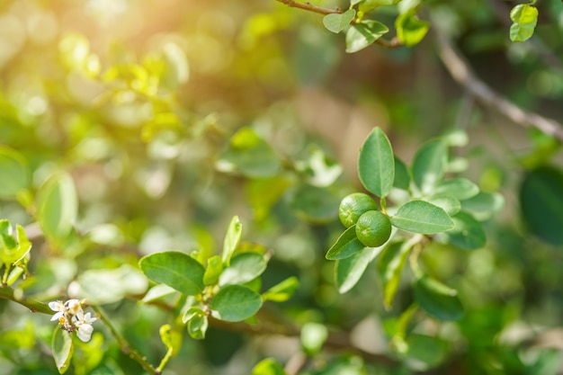
[[[432,15],[432,28],[455,41],[488,85],[563,121],[563,4],[538,1],[536,35],[513,43],[516,2],[423,3],[421,17]],[[396,14],[389,7],[378,19],[392,25]],[[0,144],[23,156],[31,185],[17,199],[0,197],[0,216],[34,238],[33,276],[22,288],[40,300],[72,294],[69,284],[110,290],[99,302],[157,362],[165,353],[157,326],[171,317],[139,306],[147,290],[139,257],[218,253],[236,214],[246,242],[273,250],[264,289],[291,275],[300,281],[292,299],[266,303],[259,317],[350,334],[348,348],[309,353],[303,373],[562,373],[559,141],[475,103],[442,67],[432,28],[412,49],[351,55],[322,16],[274,0],[4,0]],[[460,290],[459,322],[415,313],[407,336],[398,335],[413,299],[409,274],[390,311],[375,267],[350,292],[335,288],[325,253],[342,231],[338,202],[360,189],[358,147],[374,126],[404,160],[428,138],[465,130],[464,175],[505,195],[505,209],[487,222],[485,248],[424,249],[424,267]],[[79,213],[76,231],[54,245],[33,236],[32,201],[58,170],[76,184]],[[51,332],[46,317],[0,300],[0,374],[57,373]],[[141,373],[102,333],[96,328],[71,371]],[[290,362],[299,335],[280,334],[211,326],[202,342],[184,339],[165,373],[248,374],[264,357]],[[380,360],[401,345],[400,365]]]

